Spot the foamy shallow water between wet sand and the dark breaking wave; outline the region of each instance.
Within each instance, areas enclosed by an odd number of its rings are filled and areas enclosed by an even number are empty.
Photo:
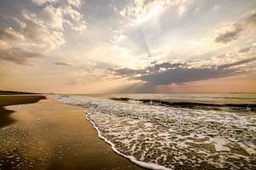
[[[102,97],[59,97],[87,117],[114,148],[171,169],[256,168],[256,115],[145,105]]]

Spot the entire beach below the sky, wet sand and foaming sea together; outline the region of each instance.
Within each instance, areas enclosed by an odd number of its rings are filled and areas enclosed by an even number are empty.
[[[255,167],[254,94],[118,95],[0,96],[0,169]]]

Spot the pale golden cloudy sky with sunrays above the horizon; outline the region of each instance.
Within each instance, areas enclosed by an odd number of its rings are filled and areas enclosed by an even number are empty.
[[[0,0],[0,89],[256,93],[255,0]]]

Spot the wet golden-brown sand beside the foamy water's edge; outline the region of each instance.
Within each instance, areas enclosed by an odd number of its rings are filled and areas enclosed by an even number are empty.
[[[5,109],[15,122],[0,127],[0,169],[141,169],[98,138],[82,107],[43,99]]]

